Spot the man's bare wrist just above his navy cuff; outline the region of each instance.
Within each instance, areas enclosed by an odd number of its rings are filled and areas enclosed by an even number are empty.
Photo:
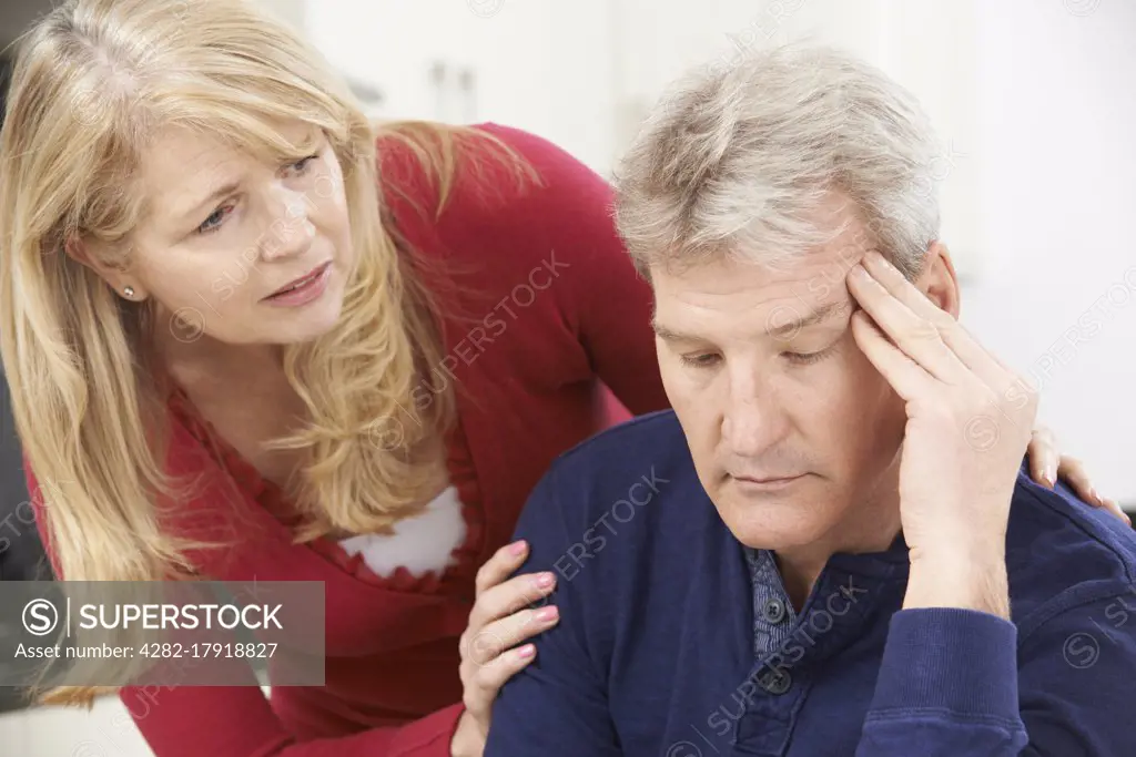
[[[1010,619],[1005,557],[997,552],[912,557],[904,609],[958,607]]]

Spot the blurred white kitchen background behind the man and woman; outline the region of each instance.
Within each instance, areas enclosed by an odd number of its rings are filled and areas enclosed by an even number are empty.
[[[1136,2],[260,1],[375,117],[516,126],[604,176],[690,67],[800,37],[883,67],[939,129],[928,174],[943,180],[964,323],[1041,386],[1061,448],[1136,512]],[[0,0],[0,49],[50,5]],[[0,579],[28,579],[41,553],[2,398]],[[114,699],[90,714],[14,709],[0,715],[0,745],[35,757],[149,754]]]

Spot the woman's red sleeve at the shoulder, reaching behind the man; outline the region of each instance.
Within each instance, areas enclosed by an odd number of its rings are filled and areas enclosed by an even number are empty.
[[[526,222],[571,266],[558,296],[595,375],[636,415],[668,407],[651,329],[653,295],[616,232],[611,185],[542,137],[495,125],[486,131],[540,174]]]

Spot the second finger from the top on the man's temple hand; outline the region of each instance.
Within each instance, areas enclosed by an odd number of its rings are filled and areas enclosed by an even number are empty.
[[[852,267],[847,286],[887,338],[928,373],[952,385],[967,380],[967,367],[943,342],[938,328],[896,300],[866,267]]]

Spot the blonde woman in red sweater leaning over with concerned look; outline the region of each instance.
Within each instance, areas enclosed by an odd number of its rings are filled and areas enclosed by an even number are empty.
[[[324,583],[326,685],[120,691],[160,757],[479,755],[557,622],[509,578],[529,488],[626,418],[599,385],[667,404],[608,186],[515,129],[376,131],[250,3],[169,7],[72,0],[14,74],[2,348],[52,563]]]

